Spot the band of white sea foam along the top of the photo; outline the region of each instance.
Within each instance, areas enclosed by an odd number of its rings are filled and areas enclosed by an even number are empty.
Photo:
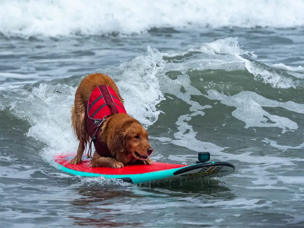
[[[141,33],[191,26],[304,25],[301,0],[2,0],[0,33],[6,36]]]

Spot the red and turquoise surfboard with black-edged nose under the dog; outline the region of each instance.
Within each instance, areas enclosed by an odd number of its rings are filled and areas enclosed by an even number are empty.
[[[208,152],[207,152],[208,153]],[[202,153],[199,153],[199,156]],[[206,154],[206,153],[205,153]],[[209,153],[208,153],[209,154]],[[170,164],[162,162],[153,162],[151,165],[128,165],[123,168],[98,167],[93,168],[90,164],[91,158],[82,157],[79,164],[70,164],[69,161],[74,155],[54,156],[56,168],[59,170],[84,177],[116,178],[125,182],[140,184],[151,181],[164,182],[167,180],[196,179],[209,177],[223,177],[232,174],[235,171],[233,164],[224,161],[206,162],[200,159],[196,164]],[[204,155],[205,156],[205,155]]]

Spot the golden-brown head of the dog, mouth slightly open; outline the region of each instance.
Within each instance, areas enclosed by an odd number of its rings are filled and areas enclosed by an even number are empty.
[[[116,148],[131,154],[135,159],[145,160],[153,152],[148,133],[138,121],[133,121],[116,135]]]

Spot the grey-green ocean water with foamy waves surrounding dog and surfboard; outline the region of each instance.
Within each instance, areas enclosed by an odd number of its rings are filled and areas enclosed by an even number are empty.
[[[0,227],[304,227],[304,1],[2,0]],[[70,108],[111,76],[152,159],[223,180],[75,177]]]

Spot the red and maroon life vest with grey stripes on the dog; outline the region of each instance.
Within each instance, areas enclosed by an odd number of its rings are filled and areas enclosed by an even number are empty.
[[[108,85],[98,85],[88,98],[85,125],[92,138],[91,143],[94,143],[95,150],[101,157],[112,157],[107,145],[100,140],[99,133],[103,119],[115,113],[127,112],[114,89]]]

